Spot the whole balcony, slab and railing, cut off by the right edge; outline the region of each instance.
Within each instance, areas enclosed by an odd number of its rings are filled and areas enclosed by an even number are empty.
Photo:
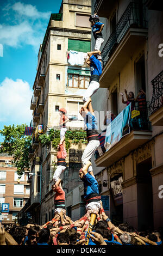
[[[149,105],[149,120],[152,125],[163,125],[163,70],[151,81],[152,100]]]

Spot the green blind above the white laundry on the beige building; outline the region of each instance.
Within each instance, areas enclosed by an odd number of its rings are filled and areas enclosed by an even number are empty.
[[[91,41],[68,39],[68,51],[90,52]]]

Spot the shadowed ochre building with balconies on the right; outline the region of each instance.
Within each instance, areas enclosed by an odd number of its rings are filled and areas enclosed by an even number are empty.
[[[162,215],[162,74],[161,54],[163,12],[158,1],[92,0],[92,14],[97,13],[103,28],[103,72],[100,88],[92,96],[93,108],[102,115],[106,111],[117,119],[126,107],[126,96],[139,90],[146,93],[146,118],[135,118],[130,133],[122,137],[110,150],[92,157],[93,172],[101,196],[107,199],[106,211],[116,223],[127,222],[143,230],[158,228]],[[92,35],[92,48],[95,40]],[[137,103],[135,103],[137,110]],[[99,132],[103,135],[102,124]],[[113,131],[114,132],[114,131]],[[68,194],[70,204],[79,202],[83,188]]]

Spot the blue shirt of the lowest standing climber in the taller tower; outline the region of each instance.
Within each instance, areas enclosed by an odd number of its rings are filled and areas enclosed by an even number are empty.
[[[99,194],[97,180],[93,178],[92,175],[90,175],[89,173],[85,174],[83,181],[84,181],[84,198],[85,199],[93,193]]]

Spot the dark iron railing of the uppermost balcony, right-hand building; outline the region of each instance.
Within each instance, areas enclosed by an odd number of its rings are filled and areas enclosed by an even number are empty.
[[[130,27],[134,28],[147,28],[145,20],[145,7],[141,3],[131,2],[127,9],[124,11],[120,21],[116,25],[116,29],[109,36],[102,50],[102,67],[108,62],[112,52],[116,46],[122,41],[124,35]]]

